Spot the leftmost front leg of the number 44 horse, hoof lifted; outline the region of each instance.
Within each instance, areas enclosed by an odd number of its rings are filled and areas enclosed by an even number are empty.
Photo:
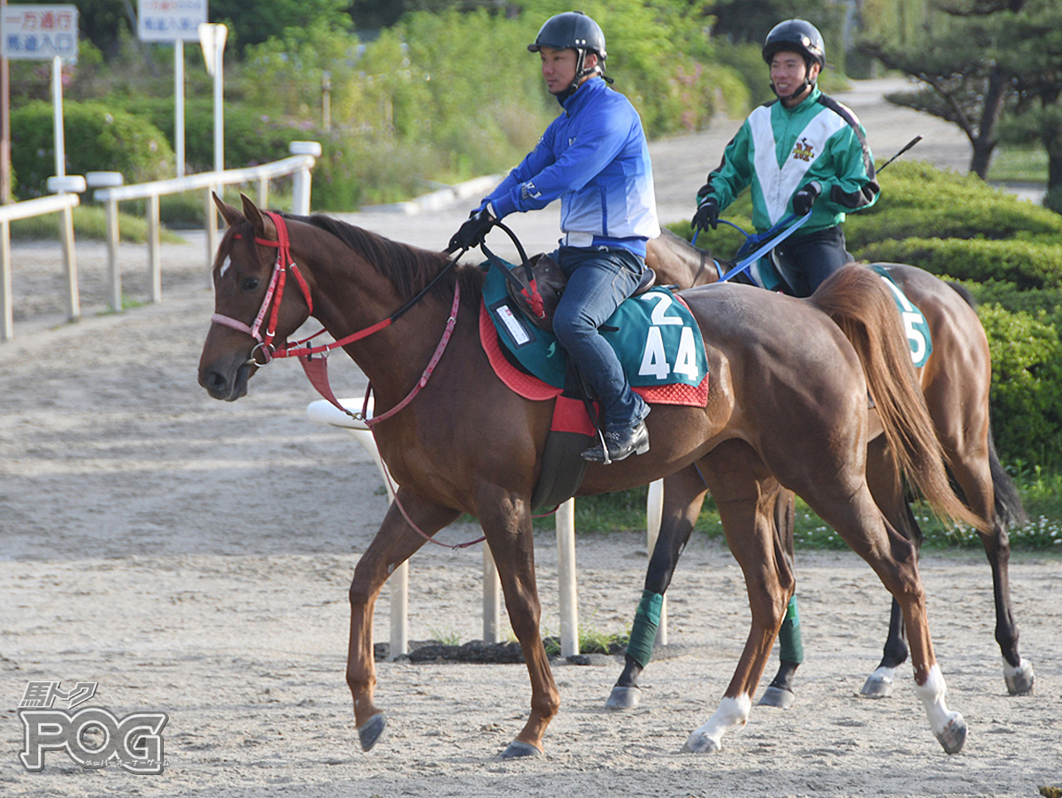
[[[425,502],[407,490],[399,490],[406,513],[427,535],[434,535],[459,515],[449,507]],[[402,517],[396,503],[388,509],[383,523],[361,555],[350,582],[350,639],[346,657],[346,683],[354,699],[354,719],[363,750],[379,740],[387,721],[374,702],[376,663],[373,656],[373,611],[383,583],[394,570],[425,543]]]

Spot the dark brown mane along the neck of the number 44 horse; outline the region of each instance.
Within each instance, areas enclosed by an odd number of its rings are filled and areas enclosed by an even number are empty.
[[[423,291],[449,262],[446,253],[392,241],[335,216],[322,213],[308,216],[294,213],[282,213],[282,215],[286,219],[305,222],[338,238],[388,278],[402,299],[408,300],[416,296],[417,292]],[[461,281],[462,306],[478,310],[483,295],[484,273],[476,265],[457,264],[434,284],[430,295],[442,301],[451,299],[458,280]]]

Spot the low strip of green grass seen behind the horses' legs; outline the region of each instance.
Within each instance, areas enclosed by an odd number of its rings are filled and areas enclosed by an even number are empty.
[[[1010,531],[1015,551],[1062,553],[1062,473],[1045,472],[1040,466],[1017,463],[1010,469],[1029,515],[1029,523]],[[579,533],[638,532],[646,528],[648,488],[582,497],[576,501],[576,530]],[[912,507],[925,535],[926,549],[979,549],[980,537],[970,527],[944,524],[922,503]],[[793,537],[798,549],[843,550],[847,544],[808,506],[796,500]],[[549,531],[553,520],[535,519],[535,528]],[[723,527],[712,497],[701,509],[696,530],[709,538],[722,539]]]

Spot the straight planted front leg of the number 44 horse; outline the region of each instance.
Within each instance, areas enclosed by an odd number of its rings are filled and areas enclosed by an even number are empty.
[[[543,752],[542,738],[561,706],[549,659],[542,642],[542,605],[534,573],[534,538],[530,496],[480,490],[476,496],[480,524],[494,556],[509,622],[519,641],[531,679],[531,714],[516,739],[501,756],[535,757]]]

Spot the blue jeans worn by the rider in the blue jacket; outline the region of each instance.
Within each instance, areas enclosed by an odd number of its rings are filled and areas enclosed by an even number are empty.
[[[601,400],[605,432],[629,430],[649,415],[631,391],[616,352],[598,328],[638,287],[645,262],[627,249],[562,246],[553,255],[568,278],[553,332]]]

